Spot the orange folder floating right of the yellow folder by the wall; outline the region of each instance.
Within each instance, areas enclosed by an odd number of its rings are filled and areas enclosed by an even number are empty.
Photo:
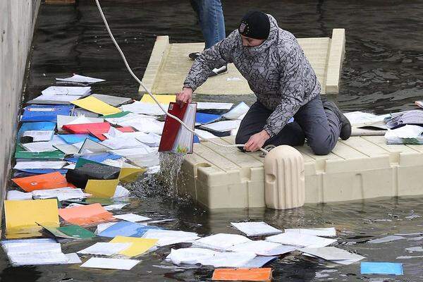
[[[59,216],[80,226],[87,226],[101,223],[104,221],[113,221],[113,214],[107,212],[101,204],[87,204],[86,206],[71,207],[68,209],[59,209]]]

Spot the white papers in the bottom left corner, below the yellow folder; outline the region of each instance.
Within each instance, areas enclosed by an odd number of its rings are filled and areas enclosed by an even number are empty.
[[[6,240],[1,246],[13,266],[39,264],[78,264],[78,255],[65,255],[61,245],[51,239]]]

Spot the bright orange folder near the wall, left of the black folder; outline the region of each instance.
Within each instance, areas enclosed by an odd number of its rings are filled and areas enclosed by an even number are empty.
[[[66,178],[62,176],[61,173],[59,173],[58,171],[46,174],[39,174],[37,176],[12,178],[12,180],[26,192],[32,192],[34,190],[56,189],[63,187],[75,188],[75,186],[71,183],[68,183],[68,181],[66,181]]]

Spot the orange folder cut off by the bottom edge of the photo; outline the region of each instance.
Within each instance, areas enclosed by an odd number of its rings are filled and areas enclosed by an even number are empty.
[[[271,268],[215,269],[212,280],[219,281],[271,281]]]

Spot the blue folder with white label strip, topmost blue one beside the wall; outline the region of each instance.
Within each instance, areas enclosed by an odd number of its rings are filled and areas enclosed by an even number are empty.
[[[57,121],[57,115],[70,116],[73,105],[25,106],[20,121]]]

